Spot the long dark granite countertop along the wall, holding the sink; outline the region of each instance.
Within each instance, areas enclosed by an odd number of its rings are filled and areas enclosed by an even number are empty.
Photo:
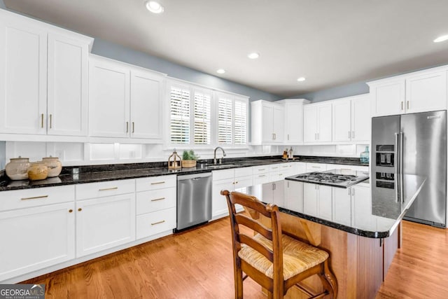
[[[211,172],[218,169],[232,169],[269,165],[284,162],[316,162],[344,165],[362,165],[358,158],[332,158],[295,156],[294,160],[284,161],[279,156],[265,156],[254,158],[225,158],[223,165],[213,165],[212,160],[199,160],[196,167],[182,169],[168,169],[167,162],[128,163],[117,165],[89,165],[78,167],[63,167],[62,172],[55,178],[41,181],[11,181],[4,171],[0,172],[0,191],[20,190],[27,188],[41,188],[50,186],[71,185],[76,183],[93,183],[99,181],[113,181],[121,179],[137,179],[148,176],[164,176],[169,174],[195,174]],[[77,174],[74,174],[78,172]]]

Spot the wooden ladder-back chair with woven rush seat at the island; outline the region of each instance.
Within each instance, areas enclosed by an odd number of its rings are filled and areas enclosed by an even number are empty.
[[[263,204],[256,197],[228,190],[225,195],[232,227],[232,244],[235,275],[235,298],[243,298],[243,281],[251,277],[268,291],[268,298],[283,298],[291,286],[317,274],[323,284],[323,292],[310,294],[310,298],[337,297],[335,276],[328,267],[328,253],[314,246],[300,242],[281,232],[279,207]],[[237,214],[235,204],[241,204],[255,213],[271,219],[271,228],[244,214]],[[249,236],[239,232],[244,225],[256,232]],[[242,272],[246,275],[243,277]]]

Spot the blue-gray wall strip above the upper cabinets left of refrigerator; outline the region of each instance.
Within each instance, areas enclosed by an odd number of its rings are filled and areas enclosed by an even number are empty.
[[[350,97],[351,95],[361,95],[369,92],[369,86],[365,82],[351,83],[347,85],[318,90],[303,95],[290,97],[291,99],[309,99],[311,102],[322,102],[329,99],[339,99],[339,97]]]

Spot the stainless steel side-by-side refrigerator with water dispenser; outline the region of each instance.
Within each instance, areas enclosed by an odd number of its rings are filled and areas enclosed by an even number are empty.
[[[405,219],[447,226],[447,111],[372,118],[371,178],[377,187],[404,192],[402,174],[426,176]]]

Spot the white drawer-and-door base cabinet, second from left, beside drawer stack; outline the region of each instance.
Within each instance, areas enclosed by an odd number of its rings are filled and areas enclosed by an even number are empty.
[[[134,241],[135,211],[133,179],[77,185],[76,257]]]

